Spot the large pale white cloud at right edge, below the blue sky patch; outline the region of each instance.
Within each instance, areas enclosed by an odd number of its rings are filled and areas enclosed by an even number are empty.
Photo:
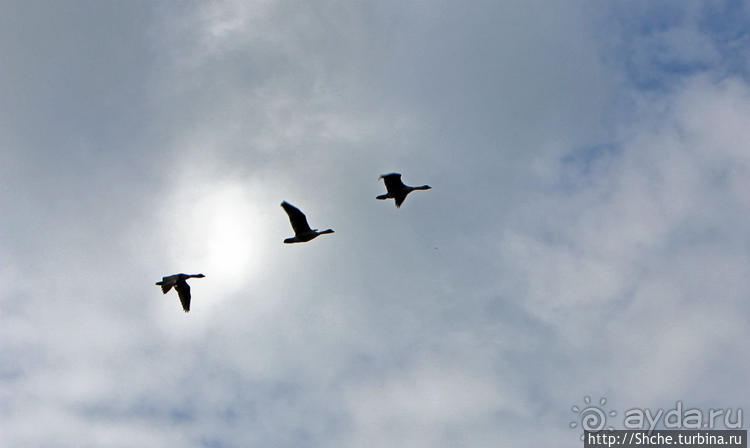
[[[750,261],[738,194],[748,156],[737,149],[748,92],[733,79],[687,82],[651,106],[666,111],[657,123],[627,128],[595,179],[539,199],[506,235],[503,265],[524,306],[581,356],[581,394],[600,384],[630,406],[733,400],[731,375],[712,395],[699,389],[746,364],[735,350]]]

